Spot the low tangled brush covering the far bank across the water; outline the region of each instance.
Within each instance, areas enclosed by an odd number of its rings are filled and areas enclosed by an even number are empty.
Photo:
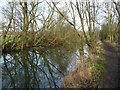
[[[65,46],[68,48],[80,46],[81,39],[73,30],[42,31],[42,32],[20,32],[2,38],[2,51],[20,51],[30,48],[53,48]]]

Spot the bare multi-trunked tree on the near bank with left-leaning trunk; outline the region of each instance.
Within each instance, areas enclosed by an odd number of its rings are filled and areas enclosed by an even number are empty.
[[[94,53],[94,45],[96,44],[97,39],[95,38],[95,27],[96,27],[96,16],[98,15],[98,5],[97,5],[97,1],[95,0],[95,2],[78,2],[76,0],[76,2],[72,2],[70,1],[69,3],[66,4],[67,10],[69,11],[69,13],[71,14],[71,17],[66,18],[64,16],[64,14],[61,12],[61,10],[57,7],[56,3],[53,2],[53,5],[55,6],[57,12],[64,17],[64,19],[71,25],[74,27],[74,30],[76,32],[79,32],[76,28],[77,24],[76,22],[79,19],[79,29],[82,30],[83,33],[83,37],[82,42],[81,43],[86,43],[88,45],[88,48],[90,50],[90,53]],[[78,14],[78,16],[76,16],[76,13]],[[68,13],[67,13],[68,14]],[[76,19],[77,17],[77,19]],[[72,20],[72,21],[71,21]],[[88,29],[88,33],[86,32],[86,27]],[[78,33],[79,37],[80,34]],[[83,47],[84,44],[81,44],[81,50],[80,52],[83,51]],[[83,52],[81,53],[83,55]]]

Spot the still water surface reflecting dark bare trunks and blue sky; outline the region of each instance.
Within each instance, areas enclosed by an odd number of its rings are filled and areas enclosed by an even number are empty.
[[[64,48],[3,54],[3,88],[59,88],[79,55]],[[71,68],[72,67],[72,68]]]

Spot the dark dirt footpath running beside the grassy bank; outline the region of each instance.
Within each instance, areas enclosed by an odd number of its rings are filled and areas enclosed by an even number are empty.
[[[120,88],[119,85],[119,59],[115,49],[108,43],[103,42],[105,49],[105,73],[104,73],[104,88]]]

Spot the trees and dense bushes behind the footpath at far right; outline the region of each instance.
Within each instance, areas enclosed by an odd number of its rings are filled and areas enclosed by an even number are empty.
[[[100,37],[101,40],[108,40],[111,43],[119,43],[120,31],[120,2],[113,1],[111,8],[107,8],[107,15],[105,16],[105,23],[101,25]]]

